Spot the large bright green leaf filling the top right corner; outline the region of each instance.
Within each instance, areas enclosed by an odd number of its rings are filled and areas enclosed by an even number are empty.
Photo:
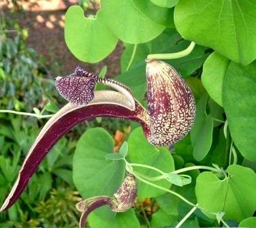
[[[180,0],[174,10],[179,33],[236,63],[256,58],[256,5],[244,0]]]

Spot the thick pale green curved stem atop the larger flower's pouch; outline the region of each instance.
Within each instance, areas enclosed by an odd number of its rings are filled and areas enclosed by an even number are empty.
[[[189,55],[193,48],[195,47],[195,42],[191,42],[189,47],[180,52],[167,53],[167,54],[148,54],[147,59],[179,59]]]

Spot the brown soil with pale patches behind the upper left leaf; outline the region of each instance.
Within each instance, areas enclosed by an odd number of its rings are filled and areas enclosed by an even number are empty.
[[[123,51],[121,44],[106,59],[97,64],[86,64],[76,59],[67,49],[64,40],[65,12],[69,5],[76,0],[39,0],[18,1],[22,10],[15,11],[7,0],[0,0],[0,11],[5,18],[11,18],[20,23],[22,28],[29,29],[27,45],[38,54],[46,57],[46,65],[50,77],[66,76],[74,71],[76,65],[98,74],[101,67],[108,66],[107,77],[112,78],[120,72],[120,56]],[[10,3],[10,2],[9,2]],[[88,14],[95,14],[95,10],[88,10]]]

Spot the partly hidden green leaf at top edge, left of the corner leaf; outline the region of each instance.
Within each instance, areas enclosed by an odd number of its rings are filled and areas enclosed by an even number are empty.
[[[168,9],[153,4],[148,0],[131,0],[133,5],[139,10],[144,16],[147,16],[151,20],[165,25],[166,27],[174,28],[174,9]]]

